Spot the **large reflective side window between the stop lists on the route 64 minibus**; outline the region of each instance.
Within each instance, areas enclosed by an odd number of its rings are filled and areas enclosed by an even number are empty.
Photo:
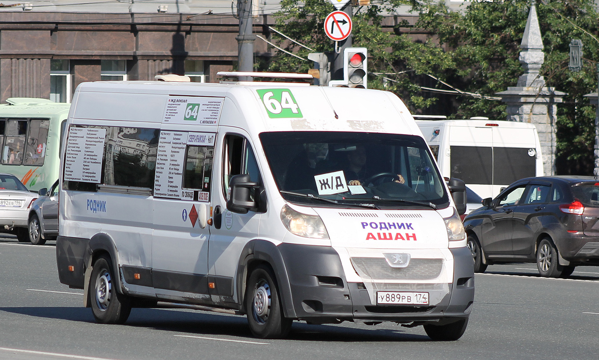
[[[159,135],[158,129],[107,127],[102,184],[153,188]]]

